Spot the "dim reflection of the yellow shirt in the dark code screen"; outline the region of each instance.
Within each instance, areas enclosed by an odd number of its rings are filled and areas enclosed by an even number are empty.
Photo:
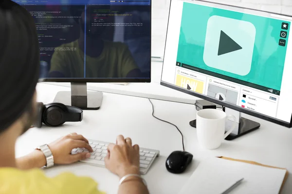
[[[71,48],[74,49],[68,50]],[[131,70],[138,68],[127,45],[110,41],[104,41],[99,57],[86,55],[85,64],[84,68],[84,52],[76,40],[55,49],[50,72],[61,72],[65,78],[84,78],[86,69],[86,78],[126,78]]]

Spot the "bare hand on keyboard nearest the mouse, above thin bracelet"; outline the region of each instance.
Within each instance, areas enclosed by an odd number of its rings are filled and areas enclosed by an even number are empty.
[[[119,135],[116,144],[108,146],[108,155],[105,159],[106,168],[122,178],[128,174],[140,175],[139,146],[132,146],[130,138]]]

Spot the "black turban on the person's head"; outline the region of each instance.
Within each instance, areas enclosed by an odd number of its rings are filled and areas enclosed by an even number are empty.
[[[33,17],[11,0],[0,1],[0,132],[27,111],[39,76]]]

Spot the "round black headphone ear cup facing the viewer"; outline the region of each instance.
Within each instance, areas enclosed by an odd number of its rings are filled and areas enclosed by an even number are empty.
[[[58,127],[65,123],[63,118],[64,110],[58,104],[45,105],[43,122],[49,127]]]

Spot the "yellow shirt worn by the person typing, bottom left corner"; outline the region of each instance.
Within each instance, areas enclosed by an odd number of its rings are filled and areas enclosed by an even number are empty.
[[[39,170],[0,168],[0,194],[105,194],[91,178],[63,173],[48,178]]]

